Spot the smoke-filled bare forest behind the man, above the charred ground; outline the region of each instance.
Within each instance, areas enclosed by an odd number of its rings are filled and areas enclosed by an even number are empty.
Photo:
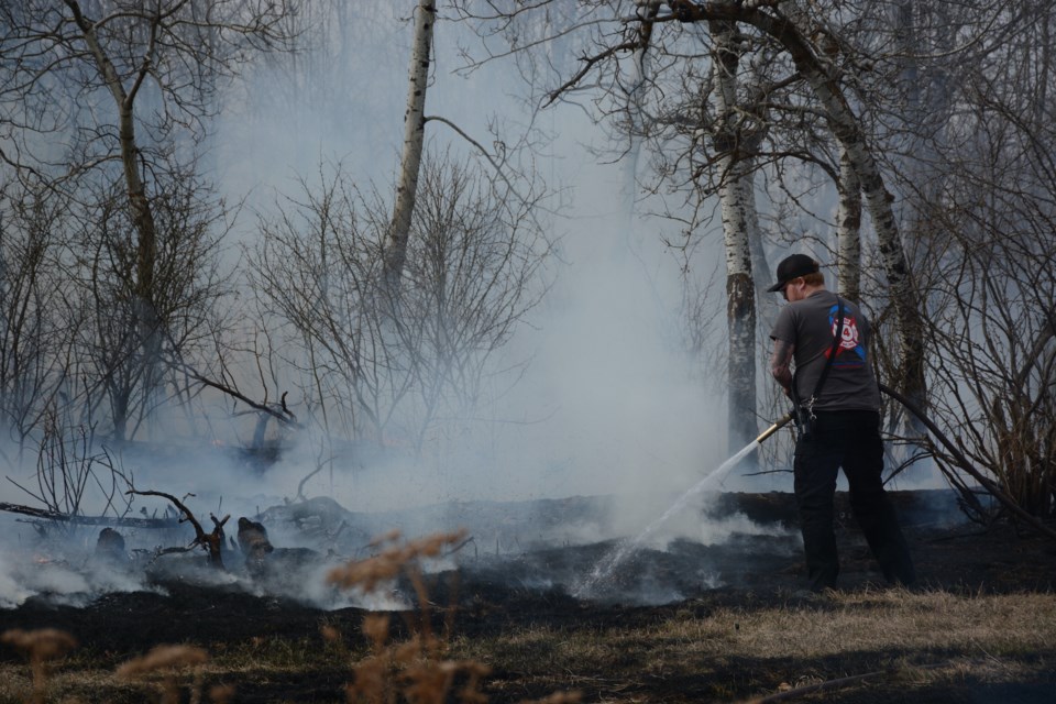
[[[950,439],[890,404],[891,471],[1050,517],[1052,21],[6,3],[3,497],[684,487],[787,410],[762,292],[806,252]]]

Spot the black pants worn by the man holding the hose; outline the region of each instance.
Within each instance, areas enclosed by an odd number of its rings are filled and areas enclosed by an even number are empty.
[[[884,579],[910,585],[916,579],[909,546],[883,491],[883,442],[879,414],[815,411],[814,435],[795,443],[795,499],[811,588],[836,586],[839,558],[833,531],[836,475],[844,469],[850,507],[880,563]]]

